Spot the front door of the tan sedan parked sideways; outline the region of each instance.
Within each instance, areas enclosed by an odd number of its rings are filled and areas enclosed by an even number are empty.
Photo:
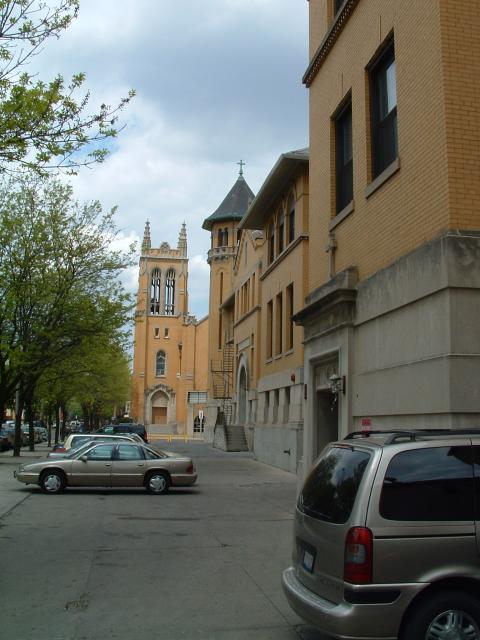
[[[109,487],[115,443],[97,444],[73,460],[69,484],[77,487]]]

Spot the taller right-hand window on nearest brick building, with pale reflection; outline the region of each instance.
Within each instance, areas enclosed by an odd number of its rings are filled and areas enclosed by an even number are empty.
[[[393,40],[370,69],[372,170],[376,178],[398,155],[397,83]]]

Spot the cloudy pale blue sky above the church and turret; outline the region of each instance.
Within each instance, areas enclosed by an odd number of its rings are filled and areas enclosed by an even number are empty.
[[[53,1],[53,0],[52,0]],[[306,0],[81,0],[38,57],[50,79],[85,72],[92,110],[137,92],[106,162],[81,169],[81,201],[118,206],[118,246],[176,247],[187,225],[190,312],[208,313],[203,220],[238,177],[254,193],[281,153],[308,144]],[[137,267],[124,274],[136,292]]]

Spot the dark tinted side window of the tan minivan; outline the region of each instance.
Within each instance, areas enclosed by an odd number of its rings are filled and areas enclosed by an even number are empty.
[[[387,520],[473,520],[471,447],[403,451],[383,481],[380,514]]]

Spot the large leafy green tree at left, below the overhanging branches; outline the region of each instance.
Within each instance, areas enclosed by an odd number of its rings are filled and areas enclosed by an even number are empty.
[[[42,373],[86,340],[107,344],[116,336],[121,343],[132,302],[119,274],[131,264],[133,247],[125,255],[112,251],[113,216],[98,202],[75,202],[71,187],[58,180],[23,177],[0,185],[1,416],[15,392],[20,414]]]

